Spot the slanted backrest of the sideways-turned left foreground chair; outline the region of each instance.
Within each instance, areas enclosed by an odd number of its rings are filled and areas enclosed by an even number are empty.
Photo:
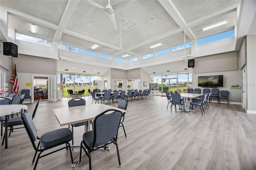
[[[36,127],[34,125],[34,122],[33,122],[33,119],[30,115],[30,112],[28,110],[23,110],[21,109],[21,120],[22,120],[22,123],[28,133],[28,136],[32,142],[32,145],[34,147],[34,149],[36,150],[36,145],[35,145],[35,141],[37,139],[37,130],[36,130]]]

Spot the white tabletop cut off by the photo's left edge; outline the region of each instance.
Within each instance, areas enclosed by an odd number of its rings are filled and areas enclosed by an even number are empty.
[[[0,116],[20,112],[21,109],[27,109],[27,105],[0,105]]]

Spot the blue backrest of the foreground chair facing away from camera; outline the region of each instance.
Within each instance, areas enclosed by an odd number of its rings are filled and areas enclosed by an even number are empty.
[[[115,109],[106,110],[95,117],[92,148],[94,148],[95,144],[96,146],[100,146],[108,143],[114,137],[117,138],[121,117],[122,112]]]

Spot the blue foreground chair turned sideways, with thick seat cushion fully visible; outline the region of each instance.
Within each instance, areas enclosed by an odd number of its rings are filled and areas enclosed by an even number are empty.
[[[72,138],[73,138],[73,133],[69,128],[60,128],[57,130],[52,130],[50,132],[44,133],[39,138],[37,136],[37,130],[36,130],[36,127],[34,125],[34,122],[32,120],[32,117],[31,117],[29,111],[24,110],[24,112],[22,112],[22,110],[21,110],[21,119],[22,119],[22,123],[23,123],[24,127],[26,128],[26,131],[27,131],[30,141],[33,145],[33,148],[34,148],[34,150],[36,150],[36,153],[32,160],[32,164],[34,163],[37,152],[40,152],[36,158],[34,170],[36,169],[39,158],[42,158],[44,156],[47,156],[49,154],[52,154],[52,153],[57,152],[62,149],[67,149],[67,150],[69,149],[70,156],[71,156],[71,162],[72,162],[72,164],[74,163],[70,144],[69,144],[69,141],[72,140]],[[36,140],[40,140],[38,142],[38,146],[36,146],[36,143],[35,143]],[[60,148],[59,147],[60,145],[63,145],[63,147]],[[56,146],[58,146],[56,148],[56,150],[52,150],[52,148],[54,148]],[[51,151],[47,152],[46,154],[41,156],[42,152],[44,152],[45,150],[48,150],[48,149],[51,149]]]

